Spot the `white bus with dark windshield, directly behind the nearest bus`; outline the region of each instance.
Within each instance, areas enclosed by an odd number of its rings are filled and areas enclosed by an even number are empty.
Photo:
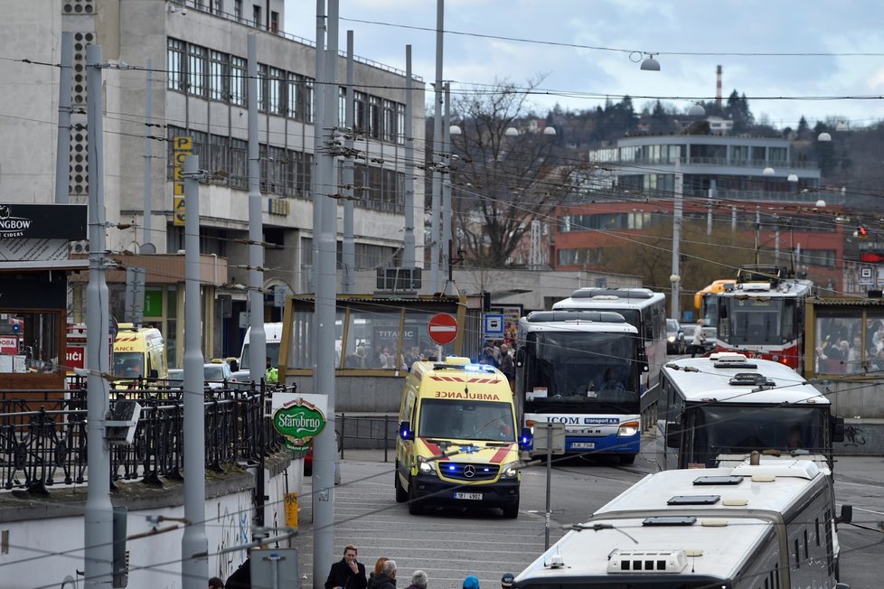
[[[754,450],[806,456],[832,469],[844,420],[782,363],[733,352],[682,358],[660,371],[656,462],[662,470],[742,461]]]

